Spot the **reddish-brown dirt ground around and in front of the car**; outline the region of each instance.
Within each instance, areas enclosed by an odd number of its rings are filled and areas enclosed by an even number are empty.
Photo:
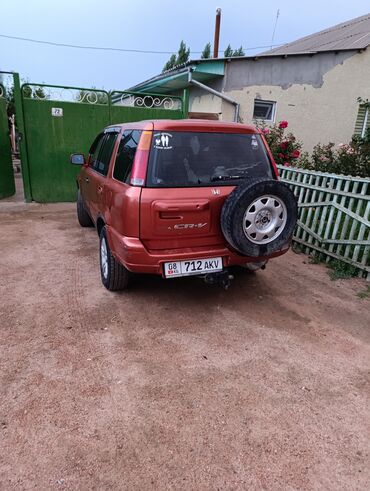
[[[370,489],[370,301],[292,252],[109,293],[74,206],[0,204],[0,488]]]

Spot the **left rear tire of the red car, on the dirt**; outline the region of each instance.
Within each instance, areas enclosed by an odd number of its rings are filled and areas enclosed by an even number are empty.
[[[100,232],[99,246],[100,275],[103,285],[111,292],[125,290],[129,284],[130,272],[113,257],[105,227]]]

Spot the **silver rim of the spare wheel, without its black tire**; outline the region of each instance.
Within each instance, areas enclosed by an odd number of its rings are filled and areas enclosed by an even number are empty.
[[[243,230],[254,244],[268,244],[284,230],[287,221],[285,203],[277,196],[264,195],[255,199],[243,217]]]

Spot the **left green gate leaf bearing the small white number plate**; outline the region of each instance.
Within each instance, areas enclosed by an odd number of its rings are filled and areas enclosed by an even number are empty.
[[[70,165],[69,156],[86,153],[110,123],[108,93],[26,84],[22,99],[30,198],[73,201],[79,168]]]

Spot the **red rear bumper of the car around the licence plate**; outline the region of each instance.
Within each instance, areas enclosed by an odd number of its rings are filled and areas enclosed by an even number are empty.
[[[270,256],[248,257],[237,254],[227,247],[191,247],[184,249],[149,251],[140,239],[125,237],[117,234],[111,227],[107,227],[108,241],[114,257],[133,273],[149,273],[163,275],[163,263],[170,261],[182,261],[186,259],[207,259],[222,257],[223,266],[236,266],[248,262],[261,262],[267,259],[285,254],[290,246]]]

